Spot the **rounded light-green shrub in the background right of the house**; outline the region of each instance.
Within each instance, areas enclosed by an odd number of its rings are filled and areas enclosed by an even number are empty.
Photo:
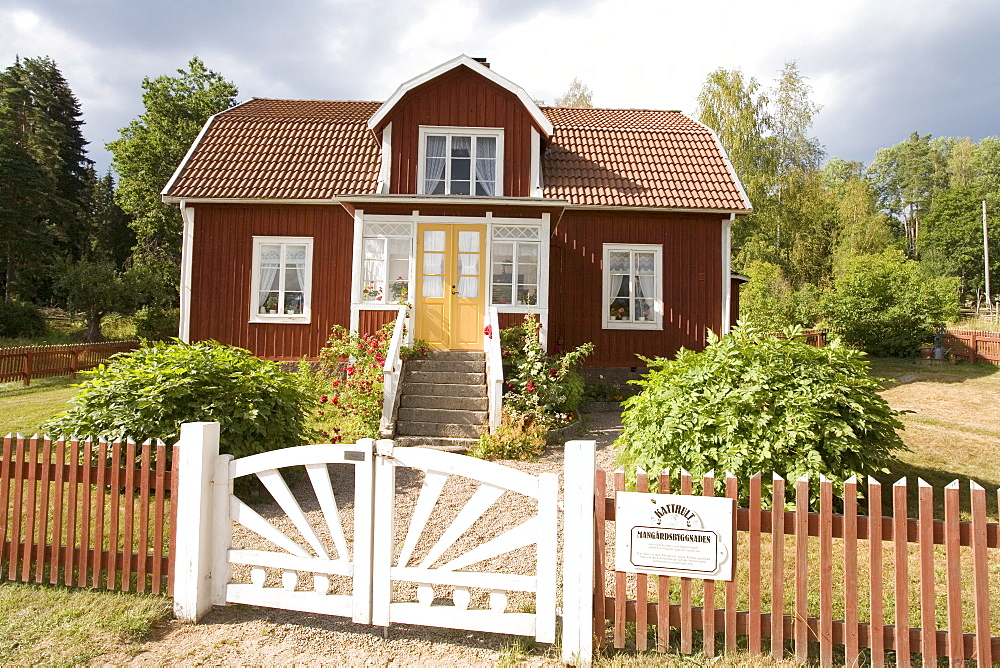
[[[958,317],[958,283],[924,275],[900,251],[861,255],[845,263],[823,310],[845,343],[880,357],[908,357],[935,327]]]

